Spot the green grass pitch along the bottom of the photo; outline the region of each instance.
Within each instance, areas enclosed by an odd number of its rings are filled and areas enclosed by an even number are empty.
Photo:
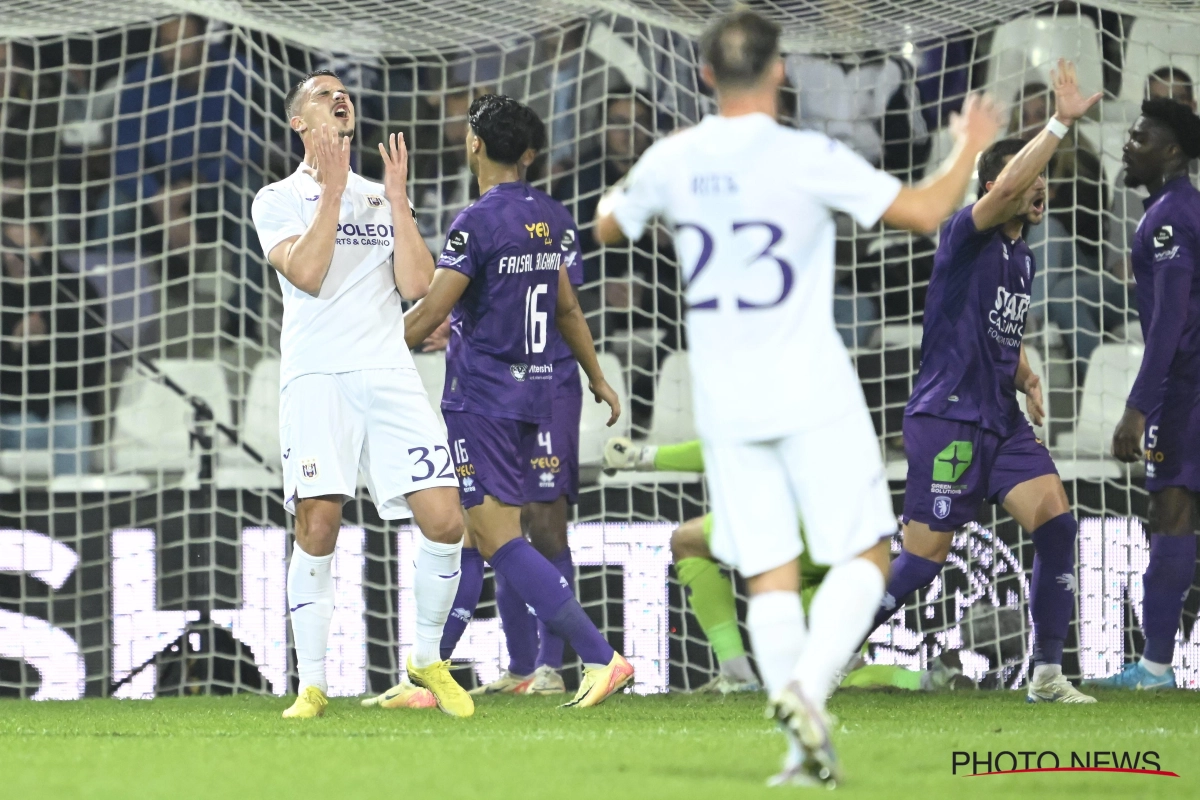
[[[840,692],[845,798],[1196,798],[1200,693],[1102,693],[1026,705],[1015,692]],[[761,694],[620,696],[590,710],[482,698],[473,718],[335,699],[284,721],[257,696],[0,703],[5,798],[779,798],[782,740]],[[953,777],[954,751],[1157,751],[1181,777]]]

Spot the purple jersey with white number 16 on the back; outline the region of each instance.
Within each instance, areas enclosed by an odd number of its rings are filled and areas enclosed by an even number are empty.
[[[566,209],[523,182],[494,186],[457,216],[437,266],[470,283],[450,313],[443,409],[551,417],[558,272],[578,260],[577,239]]]

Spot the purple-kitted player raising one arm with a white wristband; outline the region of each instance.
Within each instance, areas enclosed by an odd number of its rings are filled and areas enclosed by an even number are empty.
[[[1022,239],[1045,213],[1043,170],[1070,126],[1099,98],[1082,97],[1069,61],[1054,72],[1056,113],[1028,144],[997,142],[979,158],[979,200],[946,223],[925,300],[920,371],[905,409],[908,458],[904,549],[892,565],[880,625],[929,585],[954,530],[984,500],[1033,537],[1033,675],[1030,703],[1094,703],[1062,674],[1075,609],[1075,518],[1050,452],[1020,411],[1044,416],[1042,385],[1021,336],[1037,265]]]

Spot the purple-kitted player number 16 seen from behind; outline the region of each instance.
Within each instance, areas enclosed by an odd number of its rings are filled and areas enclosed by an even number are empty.
[[[575,223],[560,204],[520,180],[521,157],[532,139],[521,103],[496,95],[472,103],[467,161],[480,197],[455,219],[428,295],[406,314],[404,338],[409,347],[425,341],[452,309],[442,409],[469,543],[539,621],[575,648],[584,672],[569,705],[590,706],[632,680],[634,668],[521,531],[524,468],[538,427],[553,419],[552,325],[583,367],[596,401],[612,408],[610,425],[620,404],[600,372],[592,335],[562,269],[577,254]],[[430,465],[437,467],[433,461]],[[443,652],[452,650],[474,613],[481,583],[482,570],[470,569],[464,554]]]

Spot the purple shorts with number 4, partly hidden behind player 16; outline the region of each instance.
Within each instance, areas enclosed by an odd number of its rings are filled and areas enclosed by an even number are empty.
[[[583,386],[571,369],[556,377],[553,419],[538,426],[526,461],[526,503],[553,503],[566,497],[571,505],[580,499],[580,414]]]

